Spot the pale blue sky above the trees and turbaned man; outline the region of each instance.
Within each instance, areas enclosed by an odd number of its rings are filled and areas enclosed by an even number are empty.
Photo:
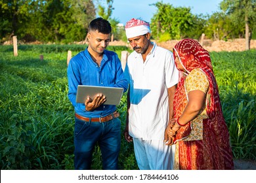
[[[161,0],[158,0],[161,1]],[[150,22],[156,7],[150,4],[156,3],[154,0],[114,0],[112,18],[117,18],[121,24],[125,24],[131,18],[141,18]],[[192,14],[212,14],[220,11],[219,3],[223,0],[162,0],[173,7],[190,7]]]

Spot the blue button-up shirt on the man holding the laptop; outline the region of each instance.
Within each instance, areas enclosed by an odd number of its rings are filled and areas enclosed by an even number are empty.
[[[70,59],[68,64],[68,98],[75,107],[75,112],[87,118],[107,116],[116,110],[116,105],[100,105],[93,111],[85,110],[84,103],[75,102],[78,85],[117,87],[123,88],[123,92],[128,88],[127,80],[123,77],[121,61],[115,52],[104,50],[99,67],[87,48]]]

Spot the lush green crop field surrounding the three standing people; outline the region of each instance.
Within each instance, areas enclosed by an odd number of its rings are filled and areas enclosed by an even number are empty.
[[[74,169],[74,108],[66,58],[83,45],[0,46],[1,169]],[[125,46],[109,46],[121,58]],[[256,159],[256,50],[211,52],[234,159]],[[39,59],[43,55],[43,60]],[[125,126],[126,93],[117,107]],[[138,169],[133,144],[121,140],[120,169]],[[96,146],[92,169],[102,169]]]

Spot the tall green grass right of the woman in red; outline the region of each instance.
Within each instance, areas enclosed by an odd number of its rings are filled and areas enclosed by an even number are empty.
[[[256,159],[256,50],[211,58],[234,158]]]

